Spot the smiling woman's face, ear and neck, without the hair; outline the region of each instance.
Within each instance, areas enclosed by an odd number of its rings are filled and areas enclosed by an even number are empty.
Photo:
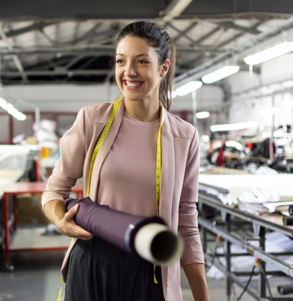
[[[130,116],[144,122],[160,117],[159,90],[169,66],[169,59],[160,64],[155,48],[145,39],[125,36],[120,40],[117,44],[116,81]],[[136,103],[130,104],[131,101]],[[144,108],[140,110],[141,114],[139,107]]]

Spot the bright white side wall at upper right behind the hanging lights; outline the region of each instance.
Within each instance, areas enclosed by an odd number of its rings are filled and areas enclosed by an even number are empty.
[[[227,81],[231,85],[233,93],[260,85],[265,87],[233,97],[229,122],[253,120],[269,128],[292,124],[293,107],[286,106],[286,101],[293,100],[293,94],[284,92],[274,95],[277,89],[282,88],[282,82],[286,83],[291,80],[293,80],[293,53],[284,54],[263,62],[260,64],[259,75],[253,74],[250,77],[248,71],[242,71],[230,76]],[[279,113],[269,116],[258,114],[259,110],[270,107],[279,107],[281,110]]]

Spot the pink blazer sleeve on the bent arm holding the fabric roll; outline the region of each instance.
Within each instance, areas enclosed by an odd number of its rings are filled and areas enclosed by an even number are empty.
[[[55,162],[55,168],[41,196],[43,211],[51,200],[65,203],[64,199],[69,197],[76,180],[82,177],[85,145],[84,109],[81,109],[73,126],[60,139],[60,158]]]

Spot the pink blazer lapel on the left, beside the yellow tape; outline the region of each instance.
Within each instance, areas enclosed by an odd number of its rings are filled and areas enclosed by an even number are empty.
[[[114,106],[114,104],[113,104],[113,106]],[[124,113],[124,101],[120,101],[118,109],[115,114],[115,117],[114,117],[112,124],[110,126],[110,129],[108,130],[108,133],[100,147],[98,156],[97,156],[94,166],[93,166],[91,189],[89,192],[89,197],[94,202],[96,201],[96,198],[97,198],[98,182],[99,182],[101,167],[102,167],[104,160],[105,160],[108,152],[110,151],[110,148],[117,135],[117,132],[119,130],[119,127],[120,127],[120,124],[121,124],[121,121],[123,118],[123,113]]]

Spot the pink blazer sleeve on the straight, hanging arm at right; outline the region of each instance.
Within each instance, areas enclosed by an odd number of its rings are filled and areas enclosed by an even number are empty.
[[[196,203],[198,201],[199,176],[199,141],[195,129],[189,154],[186,161],[185,174],[179,201],[178,231],[182,235],[184,251],[180,265],[204,263],[204,255],[198,232]]]

